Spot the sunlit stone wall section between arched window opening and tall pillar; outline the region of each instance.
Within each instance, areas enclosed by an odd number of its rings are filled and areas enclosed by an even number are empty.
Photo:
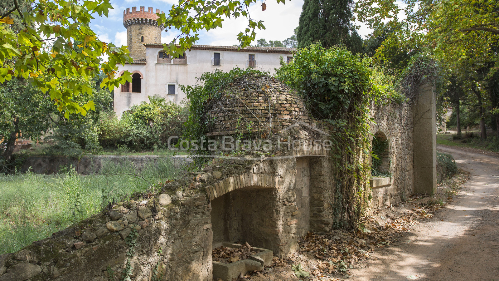
[[[394,204],[413,194],[413,106],[391,103],[372,106],[371,132],[383,132],[388,139],[388,172],[393,184],[374,186],[371,190],[372,208]]]

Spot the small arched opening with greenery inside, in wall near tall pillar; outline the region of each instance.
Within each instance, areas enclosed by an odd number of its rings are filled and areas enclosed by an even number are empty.
[[[372,140],[372,175],[390,176],[390,158],[388,156],[388,138],[385,133],[378,131]]]

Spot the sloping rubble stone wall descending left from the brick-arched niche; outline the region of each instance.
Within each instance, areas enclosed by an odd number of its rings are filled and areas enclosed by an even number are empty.
[[[159,202],[172,197],[161,195]],[[151,280],[154,272],[168,280],[212,280],[210,207],[204,194],[163,206],[153,197],[93,215],[1,255],[0,280],[118,280],[132,229],[138,234],[130,259],[132,280]]]

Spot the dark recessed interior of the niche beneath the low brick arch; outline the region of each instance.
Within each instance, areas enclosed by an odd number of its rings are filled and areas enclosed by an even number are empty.
[[[214,247],[221,242],[262,247],[278,252],[274,188],[243,187],[211,201]]]

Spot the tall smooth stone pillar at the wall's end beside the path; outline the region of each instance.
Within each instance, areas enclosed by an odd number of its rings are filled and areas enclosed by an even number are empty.
[[[437,121],[432,83],[420,85],[413,117],[414,193],[434,194],[437,188]]]

